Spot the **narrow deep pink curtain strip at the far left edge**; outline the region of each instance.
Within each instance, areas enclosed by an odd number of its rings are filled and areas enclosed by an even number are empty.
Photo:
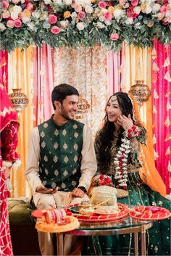
[[[0,83],[4,85],[8,92],[8,53],[0,51]]]

